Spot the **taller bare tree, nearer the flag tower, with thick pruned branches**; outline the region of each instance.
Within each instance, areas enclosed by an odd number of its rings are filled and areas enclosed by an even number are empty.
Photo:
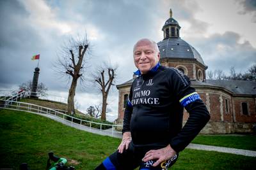
[[[88,50],[89,41],[87,36],[82,38],[70,38],[62,46],[58,53],[58,60],[54,64],[55,69],[61,76],[71,80],[68,91],[68,113],[75,114],[74,96],[76,95],[77,80],[84,80],[84,54]]]

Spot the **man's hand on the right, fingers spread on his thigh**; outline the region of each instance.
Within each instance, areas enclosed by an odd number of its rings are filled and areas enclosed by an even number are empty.
[[[158,166],[164,160],[169,160],[176,154],[175,150],[168,145],[165,148],[161,148],[159,150],[150,150],[145,154],[142,161],[147,162],[148,160],[156,160],[153,166]]]

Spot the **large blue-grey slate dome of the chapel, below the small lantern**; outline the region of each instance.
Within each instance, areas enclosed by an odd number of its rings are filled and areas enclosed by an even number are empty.
[[[163,39],[157,45],[161,58],[196,59],[204,64],[204,60],[196,49],[181,38]]]

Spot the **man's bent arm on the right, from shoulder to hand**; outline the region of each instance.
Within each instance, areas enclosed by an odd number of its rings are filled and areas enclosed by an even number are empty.
[[[157,166],[164,160],[171,159],[177,152],[184,150],[210,119],[210,114],[205,104],[195,92],[195,89],[190,87],[189,78],[177,69],[171,70],[173,72],[168,74],[171,75],[170,90],[180,100],[180,104],[186,108],[189,118],[186,125],[170,141],[169,145],[159,150],[150,150],[145,154],[142,160],[147,162],[155,159],[156,162],[153,166]]]

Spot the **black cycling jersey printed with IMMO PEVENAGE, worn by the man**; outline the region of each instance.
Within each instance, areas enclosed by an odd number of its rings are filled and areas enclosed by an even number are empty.
[[[209,112],[189,78],[173,67],[157,64],[133,81],[124,111],[123,133],[134,146],[166,146],[183,150],[209,121]],[[189,119],[182,128],[183,110]]]

